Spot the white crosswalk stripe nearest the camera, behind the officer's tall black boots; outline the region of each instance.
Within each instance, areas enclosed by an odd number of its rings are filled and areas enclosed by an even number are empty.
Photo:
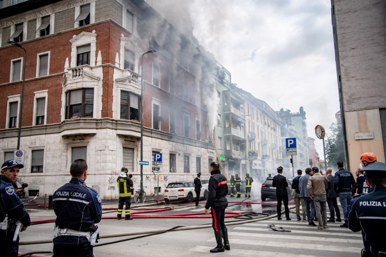
[[[210,249],[213,247],[196,246],[189,250],[189,252],[209,254]],[[277,252],[265,252],[231,248],[231,251],[225,251],[220,256],[264,256],[264,257],[317,257],[312,255],[299,255],[289,253],[277,253]]]

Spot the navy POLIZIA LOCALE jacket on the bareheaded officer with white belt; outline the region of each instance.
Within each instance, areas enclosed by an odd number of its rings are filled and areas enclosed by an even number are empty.
[[[98,223],[102,218],[99,194],[83,183],[81,179],[72,178],[69,183],[61,186],[53,194],[55,225],[59,228],[88,232],[91,231],[90,226]],[[60,237],[54,239],[54,243],[58,238]]]

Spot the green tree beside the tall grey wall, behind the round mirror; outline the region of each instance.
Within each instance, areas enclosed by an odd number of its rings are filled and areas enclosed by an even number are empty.
[[[335,123],[331,124],[325,143],[327,166],[335,167],[339,160],[344,162],[344,142],[341,126]]]

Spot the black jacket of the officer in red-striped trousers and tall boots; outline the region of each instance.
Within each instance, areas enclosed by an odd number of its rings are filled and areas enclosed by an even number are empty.
[[[228,205],[228,200],[225,198],[228,195],[227,178],[220,173],[220,170],[213,170],[210,172],[208,185],[208,200],[205,208],[209,209],[211,206]]]

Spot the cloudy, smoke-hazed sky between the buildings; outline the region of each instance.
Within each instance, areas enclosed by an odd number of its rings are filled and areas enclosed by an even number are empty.
[[[189,11],[194,36],[230,71],[232,83],[274,110],[303,106],[308,136],[324,159],[314,128],[328,134],[339,110],[330,0],[162,2]]]

